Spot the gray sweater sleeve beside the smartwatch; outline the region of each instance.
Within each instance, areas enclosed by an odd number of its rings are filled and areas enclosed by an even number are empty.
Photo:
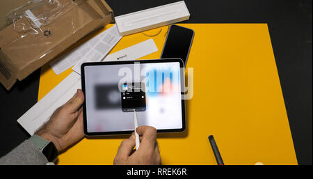
[[[47,164],[48,160],[35,144],[26,140],[10,153],[0,158],[0,165]]]

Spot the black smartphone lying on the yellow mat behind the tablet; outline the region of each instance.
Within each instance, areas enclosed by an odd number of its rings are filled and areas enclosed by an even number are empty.
[[[183,26],[171,25],[163,47],[161,59],[179,58],[186,67],[195,32]]]

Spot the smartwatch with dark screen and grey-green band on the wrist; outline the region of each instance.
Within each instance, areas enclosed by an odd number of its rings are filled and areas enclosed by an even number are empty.
[[[47,141],[36,134],[29,138],[29,140],[39,148],[42,154],[47,158],[48,162],[54,162],[58,157],[58,150],[52,141]]]

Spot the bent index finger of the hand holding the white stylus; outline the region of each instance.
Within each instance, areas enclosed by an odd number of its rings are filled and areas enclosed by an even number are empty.
[[[150,126],[139,126],[136,132],[141,136],[140,148],[143,148],[143,150],[154,150],[157,141],[157,130]]]

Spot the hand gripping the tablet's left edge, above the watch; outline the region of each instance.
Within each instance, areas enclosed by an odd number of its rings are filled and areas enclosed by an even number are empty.
[[[83,104],[81,89],[63,106],[54,111],[50,120],[35,134],[47,141],[52,141],[61,152],[83,138]]]

